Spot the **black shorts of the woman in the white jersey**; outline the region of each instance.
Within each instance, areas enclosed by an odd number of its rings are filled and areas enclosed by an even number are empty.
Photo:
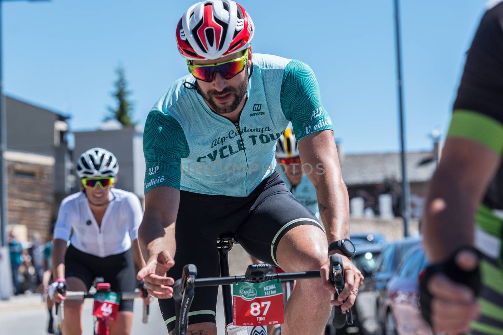
[[[131,249],[107,257],[98,257],[78,250],[71,244],[64,256],[64,276],[77,277],[89,289],[96,277],[103,277],[105,283],[115,292],[131,292],[136,288],[136,272],[134,270]],[[121,300],[119,311],[133,311],[133,300]]]

